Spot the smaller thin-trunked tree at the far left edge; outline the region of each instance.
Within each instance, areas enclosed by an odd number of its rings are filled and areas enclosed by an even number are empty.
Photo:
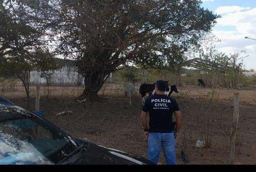
[[[0,72],[21,79],[29,95],[29,72],[33,68],[33,48],[38,30],[29,26],[24,15],[12,10],[10,1],[0,0]]]

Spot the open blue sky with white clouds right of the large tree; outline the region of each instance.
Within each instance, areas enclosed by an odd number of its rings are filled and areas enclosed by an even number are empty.
[[[202,6],[221,18],[212,33],[221,42],[216,43],[220,52],[227,54],[246,51],[245,69],[256,69],[256,0],[202,0]]]

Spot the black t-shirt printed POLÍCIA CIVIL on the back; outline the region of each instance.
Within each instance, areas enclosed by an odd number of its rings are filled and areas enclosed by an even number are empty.
[[[146,99],[142,110],[149,112],[149,132],[173,132],[172,115],[174,111],[179,111],[179,106],[174,98],[155,94]]]

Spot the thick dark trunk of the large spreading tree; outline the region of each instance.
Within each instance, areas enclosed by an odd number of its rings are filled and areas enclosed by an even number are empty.
[[[93,72],[91,75],[85,76],[85,89],[81,95],[81,100],[95,100],[98,92],[105,83],[108,77],[105,72]]]

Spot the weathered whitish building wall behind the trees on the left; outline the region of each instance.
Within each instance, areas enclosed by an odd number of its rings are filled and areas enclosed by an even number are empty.
[[[76,68],[64,66],[60,70],[56,70],[54,72],[46,72],[50,73],[48,75],[48,81],[50,85],[83,85],[84,77],[82,77],[76,71]],[[41,71],[32,71],[30,72],[30,84],[46,84],[45,75]]]

